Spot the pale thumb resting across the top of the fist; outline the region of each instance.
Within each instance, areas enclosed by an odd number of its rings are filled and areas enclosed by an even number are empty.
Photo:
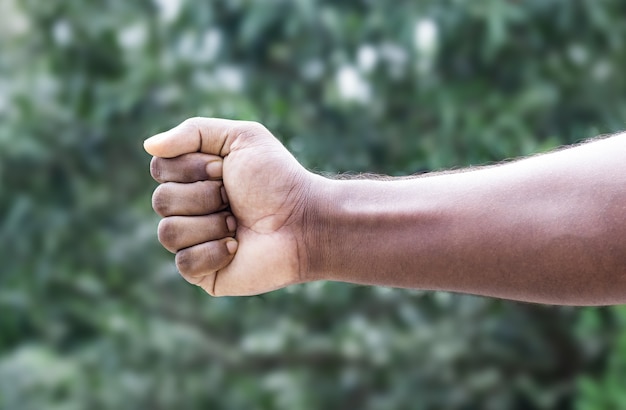
[[[225,156],[246,121],[221,118],[190,118],[169,131],[144,141],[144,149],[155,157],[173,158],[191,152]]]

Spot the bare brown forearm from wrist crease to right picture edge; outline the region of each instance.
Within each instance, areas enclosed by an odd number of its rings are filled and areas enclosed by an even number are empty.
[[[564,304],[626,301],[626,136],[470,172],[318,185],[309,271]]]

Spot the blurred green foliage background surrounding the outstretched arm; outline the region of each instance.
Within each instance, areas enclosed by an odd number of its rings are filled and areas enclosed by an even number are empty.
[[[141,144],[258,120],[310,169],[626,128],[626,2],[0,2],[0,408],[622,409],[626,308],[313,283],[213,299]]]

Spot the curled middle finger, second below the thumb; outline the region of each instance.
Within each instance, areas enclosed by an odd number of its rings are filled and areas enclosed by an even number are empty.
[[[221,181],[166,182],[152,194],[152,208],[163,217],[208,215],[227,206],[228,198]]]

